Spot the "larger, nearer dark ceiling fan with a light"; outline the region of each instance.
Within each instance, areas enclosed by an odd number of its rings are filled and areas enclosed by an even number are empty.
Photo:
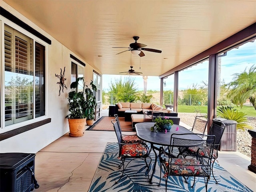
[[[162,53],[161,50],[150,49],[150,48],[144,48],[144,47],[146,47],[147,45],[142,44],[142,43],[137,43],[137,40],[138,40],[139,38],[140,38],[140,37],[138,37],[138,36],[134,36],[133,39],[135,40],[135,42],[134,42],[134,43],[131,43],[131,44],[130,44],[130,47],[113,47],[113,48],[128,48],[128,50],[122,51],[122,52],[120,52],[120,53],[123,53],[123,52],[126,52],[126,51],[131,51],[132,54],[139,55],[140,57],[145,56],[145,54],[142,52],[142,50],[144,50],[144,51],[156,52],[156,53]],[[118,54],[120,54],[120,53],[117,53],[116,55],[118,55]]]

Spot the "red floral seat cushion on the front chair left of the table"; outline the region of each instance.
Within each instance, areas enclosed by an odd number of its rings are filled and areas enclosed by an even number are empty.
[[[121,148],[122,156],[129,156],[129,157],[144,156],[147,154],[147,152],[148,152],[147,148],[141,143],[122,145],[122,148]]]

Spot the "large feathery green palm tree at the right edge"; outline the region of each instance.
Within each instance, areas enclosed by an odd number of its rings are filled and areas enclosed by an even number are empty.
[[[249,99],[256,110],[256,65],[252,65],[248,72],[246,70],[247,68],[240,74],[233,74],[234,81],[229,84],[231,90],[227,96],[232,103],[240,104],[241,107],[246,99]]]

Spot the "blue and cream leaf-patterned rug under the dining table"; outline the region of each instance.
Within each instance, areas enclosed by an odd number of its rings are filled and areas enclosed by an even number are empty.
[[[154,162],[154,153],[151,152],[152,162]],[[146,175],[146,165],[143,160],[135,159],[126,168],[122,179],[115,183],[122,175],[122,169],[118,169],[121,160],[118,160],[118,144],[108,143],[98,169],[92,180],[89,192],[159,192],[165,191],[165,181],[161,179],[161,185],[158,186],[160,168],[156,165],[156,173],[153,177],[153,184],[149,184]],[[149,160],[149,159],[148,159]],[[150,165],[150,176],[152,164]],[[162,174],[163,175],[163,174]],[[214,164],[214,176],[219,184],[215,183],[213,178],[208,182],[208,192],[252,192],[244,186],[229,172],[224,170],[218,164]],[[168,178],[168,191],[172,192],[205,192],[204,178],[196,178],[194,188],[191,188],[194,178],[188,179],[188,184],[182,177],[172,176]]]

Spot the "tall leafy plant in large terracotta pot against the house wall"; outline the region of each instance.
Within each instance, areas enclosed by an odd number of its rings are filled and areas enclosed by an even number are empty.
[[[85,84],[84,78],[77,78],[75,82],[70,84],[70,88],[78,88],[82,86],[82,90],[76,92],[76,90],[68,93],[69,102],[69,112],[66,116],[68,118],[68,124],[70,128],[71,137],[81,137],[84,135],[84,126],[86,125],[86,120],[92,120],[96,101],[93,96],[92,90]],[[92,89],[97,91],[96,86],[91,82],[90,86]]]

